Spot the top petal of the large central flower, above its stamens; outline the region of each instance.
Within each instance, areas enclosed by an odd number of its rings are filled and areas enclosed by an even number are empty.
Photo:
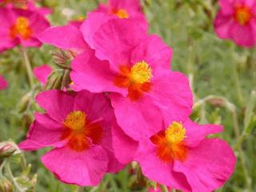
[[[110,62],[119,72],[122,65],[130,65],[132,49],[145,39],[146,30],[134,19],[111,19],[94,36],[96,56]]]

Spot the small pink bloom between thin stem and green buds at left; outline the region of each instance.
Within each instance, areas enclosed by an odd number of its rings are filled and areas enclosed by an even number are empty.
[[[33,73],[34,77],[38,79],[38,82],[42,83],[42,86],[46,85],[47,78],[49,77],[52,69],[50,66],[42,65],[34,67]]]

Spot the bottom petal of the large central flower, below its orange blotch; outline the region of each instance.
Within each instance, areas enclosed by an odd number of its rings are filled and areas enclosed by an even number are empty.
[[[119,94],[110,94],[110,98],[118,125],[134,140],[150,138],[162,129],[162,113],[149,97],[132,101]]]

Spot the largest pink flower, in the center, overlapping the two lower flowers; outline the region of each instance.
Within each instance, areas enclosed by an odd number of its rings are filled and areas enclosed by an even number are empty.
[[[138,22],[112,19],[95,34],[94,50],[71,64],[74,90],[110,92],[118,125],[134,140],[162,129],[162,115],[182,120],[191,112],[185,75],[170,72],[172,51]],[[164,77],[164,78],[163,78]]]

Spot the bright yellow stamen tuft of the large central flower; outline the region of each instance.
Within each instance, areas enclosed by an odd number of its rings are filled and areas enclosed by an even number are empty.
[[[152,69],[150,68],[147,62],[137,62],[134,66],[132,66],[130,70],[130,80],[135,83],[145,83],[150,82],[150,78],[152,78]]]

